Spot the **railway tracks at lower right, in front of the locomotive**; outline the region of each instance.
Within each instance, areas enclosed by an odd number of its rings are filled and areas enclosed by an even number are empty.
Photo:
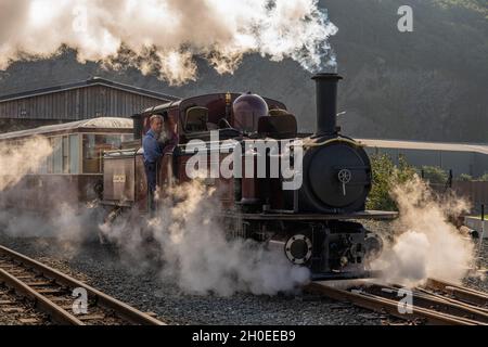
[[[312,282],[306,291],[387,313],[412,324],[488,325],[488,294],[428,279],[422,287],[404,290],[370,280]],[[410,300],[403,300],[407,297]]]

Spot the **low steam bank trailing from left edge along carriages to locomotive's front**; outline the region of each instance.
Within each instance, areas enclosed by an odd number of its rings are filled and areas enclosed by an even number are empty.
[[[261,244],[228,239],[218,222],[218,193],[198,181],[165,188],[156,217],[146,220],[134,209],[114,223],[103,223],[105,211],[91,203],[80,206],[72,184],[50,178],[41,191],[27,175],[40,168],[52,147],[43,138],[0,147],[0,231],[15,237],[55,239],[65,255],[99,235],[118,246],[120,260],[141,271],[160,266],[162,279],[171,279],[185,292],[232,295],[236,292],[273,295],[295,290],[309,271],[288,262],[282,252]],[[29,211],[39,205],[41,214]],[[39,241],[42,243],[42,241]]]

